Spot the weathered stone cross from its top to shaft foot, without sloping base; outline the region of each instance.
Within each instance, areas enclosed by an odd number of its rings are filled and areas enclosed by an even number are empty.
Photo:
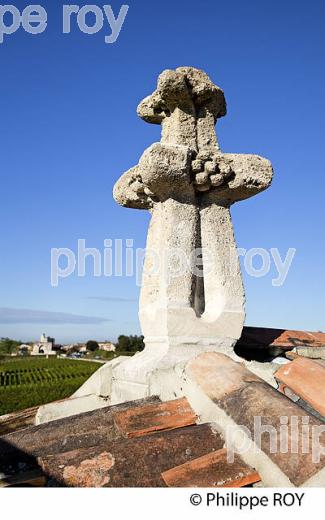
[[[120,178],[114,198],[152,214],[139,312],[147,353],[231,347],[242,331],[245,298],[229,208],[268,188],[273,172],[257,155],[220,151],[215,123],[225,114],[223,91],[191,67],[164,71],[138,107],[142,119],[161,124],[161,141]],[[201,269],[193,255],[200,248]],[[192,269],[178,274],[176,250]]]

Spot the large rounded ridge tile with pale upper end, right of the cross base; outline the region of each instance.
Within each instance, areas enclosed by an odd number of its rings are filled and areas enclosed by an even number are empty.
[[[285,370],[288,365],[285,365]],[[260,418],[262,425],[268,425],[277,432],[280,439],[280,417],[287,417],[288,422],[294,417],[297,420],[297,432],[289,431],[289,443],[298,439],[298,453],[282,453],[270,449],[268,435],[261,436],[261,450],[283,471],[290,481],[300,486],[310,477],[325,467],[325,456],[320,462],[313,461],[312,452],[302,450],[303,431],[302,418],[308,414],[296,403],[272,388],[265,381],[250,372],[243,364],[236,363],[224,354],[208,352],[191,361],[187,374],[202,391],[216,403],[236,424],[245,426],[251,435],[255,433],[255,418]],[[309,437],[312,442],[313,426],[322,427],[315,417],[309,417]],[[325,433],[320,442],[324,442]],[[311,444],[310,444],[311,445]]]

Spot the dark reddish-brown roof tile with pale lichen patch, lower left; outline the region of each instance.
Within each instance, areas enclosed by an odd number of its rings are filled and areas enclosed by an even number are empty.
[[[64,486],[164,487],[162,473],[223,443],[209,424],[201,424],[42,457],[40,464]]]

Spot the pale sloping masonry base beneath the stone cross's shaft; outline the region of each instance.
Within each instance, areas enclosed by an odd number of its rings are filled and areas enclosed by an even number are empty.
[[[186,338],[187,340],[189,338]],[[120,356],[99,368],[72,396],[71,399],[43,405],[36,415],[36,423],[49,422],[102,406],[115,405],[151,395],[180,397],[178,376],[183,367],[204,352],[221,352],[239,360],[232,347],[236,340],[220,338],[184,343],[184,338],[173,338],[175,344],[147,341],[143,352],[132,357]],[[158,382],[159,381],[159,382]],[[165,399],[165,397],[163,397]]]

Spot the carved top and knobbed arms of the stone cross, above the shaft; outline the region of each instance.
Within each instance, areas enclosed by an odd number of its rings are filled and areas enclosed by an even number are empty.
[[[161,141],[121,177],[116,201],[139,209],[170,197],[230,205],[266,189],[272,179],[269,161],[221,153],[214,126],[225,114],[223,91],[203,71],[162,72],[157,89],[138,106],[142,119],[161,124]]]

